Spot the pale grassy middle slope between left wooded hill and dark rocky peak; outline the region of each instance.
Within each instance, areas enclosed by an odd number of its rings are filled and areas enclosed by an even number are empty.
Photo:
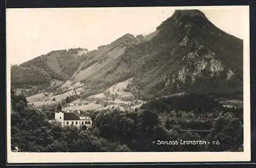
[[[108,75],[118,71],[117,67],[121,64],[121,56],[127,46],[137,44],[141,41],[131,34],[125,34],[114,42],[99,46],[97,50],[89,52],[86,60],[82,62],[79,71],[74,75],[75,81],[100,81],[108,78]]]

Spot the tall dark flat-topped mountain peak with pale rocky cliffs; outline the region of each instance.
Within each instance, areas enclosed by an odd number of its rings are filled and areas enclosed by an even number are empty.
[[[157,31],[122,57],[142,95],[243,90],[243,40],[201,11],[176,10]]]

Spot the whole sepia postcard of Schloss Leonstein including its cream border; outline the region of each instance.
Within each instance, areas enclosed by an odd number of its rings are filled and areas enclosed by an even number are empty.
[[[250,160],[248,6],[7,9],[6,35],[9,161]]]

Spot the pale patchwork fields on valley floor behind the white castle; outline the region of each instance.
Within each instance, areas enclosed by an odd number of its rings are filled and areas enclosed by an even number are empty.
[[[128,108],[134,109],[136,107],[140,107],[144,103],[143,101],[136,100],[131,92],[123,91],[123,89],[127,88],[127,85],[129,85],[131,81],[132,78],[109,87],[105,90],[105,92],[108,92],[107,94],[102,92],[99,94],[91,95],[84,100],[74,100],[70,102],[67,107],[63,107],[63,110],[101,110],[113,108],[113,106],[119,108],[120,110],[125,110]],[[82,88],[79,86],[83,86],[83,84],[80,82],[73,83],[72,81],[67,81],[61,86],[61,88],[64,91],[71,89],[70,91],[57,95],[53,95],[53,93],[42,92],[28,97],[27,100],[30,104],[33,103],[36,107],[61,103],[61,101],[65,100],[69,95],[74,94],[74,91],[78,92],[79,94],[79,91],[82,90]],[[75,87],[76,89],[74,89]],[[113,95],[115,95],[115,98],[112,97]],[[96,101],[99,100],[101,103],[96,104]],[[103,106],[104,103],[106,103],[105,107]]]

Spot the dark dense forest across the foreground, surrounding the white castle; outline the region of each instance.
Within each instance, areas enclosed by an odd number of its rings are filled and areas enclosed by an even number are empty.
[[[11,90],[11,149],[17,147],[21,152],[243,151],[243,109],[223,108],[203,95],[158,99],[135,110],[113,108],[81,114],[91,116],[91,129],[50,123],[43,112],[28,106],[23,94],[16,95]],[[153,143],[181,139],[220,143]]]

